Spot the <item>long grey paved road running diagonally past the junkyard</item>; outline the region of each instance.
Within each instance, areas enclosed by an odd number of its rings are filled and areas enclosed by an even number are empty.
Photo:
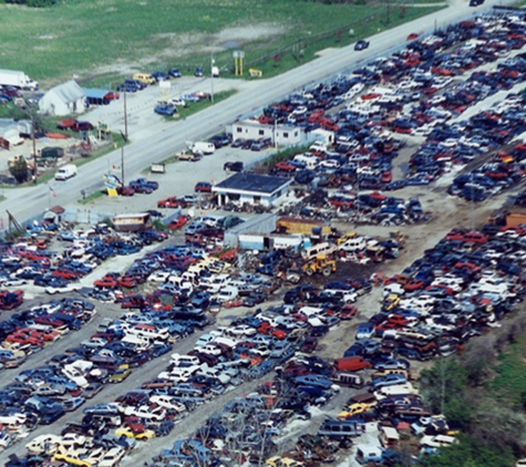
[[[489,10],[492,4],[497,3],[510,4],[512,1],[487,1],[484,10]],[[353,65],[359,65],[374,56],[385,55],[393,49],[402,48],[408,32],[430,33],[435,28],[445,27],[482,11],[483,9],[481,8],[468,8],[466,1],[462,3],[455,1],[453,7],[393,30],[380,32],[371,38],[371,46],[367,51],[357,53],[353,51],[352,45],[326,51],[319,59],[303,66],[291,70],[283,75],[257,82],[255,85],[248,85],[229,100],[220,102],[185,121],[176,122],[173,125],[159,125],[158,131],[151,126],[148,127],[144,117],[137,114],[137,125],[144,125],[144,128],[131,132],[133,143],[125,149],[127,177],[140,175],[145,166],[161,162],[173,155],[175,151],[184,148],[185,141],[199,141],[214,133],[221,132],[225,129],[226,124],[236,121],[240,115],[254,112],[270,102],[290,94],[295,90],[300,90],[310,83],[330,79]],[[206,80],[203,85],[207,87]],[[151,115],[152,111],[149,107],[148,110],[143,110],[143,112],[149,112]],[[96,187],[102,186],[102,175],[107,170],[111,160],[118,160],[118,158],[120,152],[114,152],[82,166],[79,176],[74,180],[63,184],[54,183],[53,189],[58,195],[56,199],[50,199],[48,186],[6,190],[7,199],[0,204],[0,209],[9,209],[18,220],[23,221],[32,215],[47,209],[50,203],[59,203],[62,206],[71,205],[80,198],[82,189],[90,193]],[[214,178],[214,174],[207,174],[205,167],[202,164],[198,167],[199,174],[194,174],[194,176]]]

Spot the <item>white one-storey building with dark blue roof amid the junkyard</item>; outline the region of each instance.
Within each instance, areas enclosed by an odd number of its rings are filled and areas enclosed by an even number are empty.
[[[212,190],[218,195],[219,206],[228,203],[271,206],[287,195],[292,179],[238,173],[215,185]]]

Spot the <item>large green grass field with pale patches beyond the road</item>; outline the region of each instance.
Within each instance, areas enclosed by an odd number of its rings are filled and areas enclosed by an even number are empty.
[[[441,8],[385,1],[389,24],[385,3],[68,0],[47,9],[1,4],[0,68],[23,70],[44,85],[76,76],[112,87],[133,71],[177,66],[188,74],[197,64],[209,70],[210,53],[221,75],[233,74],[233,50],[243,50],[246,75],[250,65],[265,75],[277,74],[311,59],[317,50],[344,45]],[[419,2],[430,0],[414,0]],[[354,38],[349,38],[351,27]]]

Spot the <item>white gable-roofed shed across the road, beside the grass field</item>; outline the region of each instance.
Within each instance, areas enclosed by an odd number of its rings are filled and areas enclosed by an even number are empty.
[[[49,90],[39,107],[48,115],[79,114],[86,108],[86,94],[75,81],[68,81]]]

